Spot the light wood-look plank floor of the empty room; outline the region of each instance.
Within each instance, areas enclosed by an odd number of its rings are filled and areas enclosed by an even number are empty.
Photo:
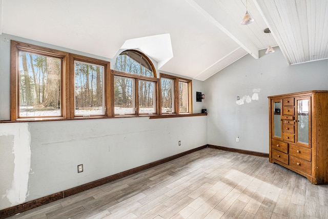
[[[11,218],[328,218],[328,186],[206,148]]]

